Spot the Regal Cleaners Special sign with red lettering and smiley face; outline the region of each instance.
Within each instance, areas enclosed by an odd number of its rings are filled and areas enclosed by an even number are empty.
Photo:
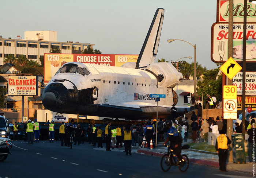
[[[37,76],[8,76],[8,95],[38,95]]]

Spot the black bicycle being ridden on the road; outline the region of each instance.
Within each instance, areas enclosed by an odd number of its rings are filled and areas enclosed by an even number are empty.
[[[164,172],[167,172],[171,166],[178,166],[178,169],[181,172],[185,172],[188,170],[189,166],[189,159],[187,155],[181,155],[182,159],[184,160],[181,162],[179,158],[173,154],[173,150],[170,148],[170,146],[167,146],[168,152],[167,154],[162,156],[161,159],[161,169]]]

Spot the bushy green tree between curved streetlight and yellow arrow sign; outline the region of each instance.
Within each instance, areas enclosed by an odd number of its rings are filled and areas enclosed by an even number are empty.
[[[216,68],[203,73],[203,81],[198,81],[196,87],[199,96],[202,96],[203,93],[204,96],[206,96],[206,94],[214,94],[218,101],[222,93],[222,75],[216,80],[218,71],[219,69]]]

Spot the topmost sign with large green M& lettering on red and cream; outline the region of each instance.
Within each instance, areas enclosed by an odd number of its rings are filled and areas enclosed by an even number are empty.
[[[233,22],[244,22],[244,1],[233,0]],[[255,22],[256,20],[256,4],[247,2],[247,23]],[[229,0],[217,1],[217,22],[229,22]]]

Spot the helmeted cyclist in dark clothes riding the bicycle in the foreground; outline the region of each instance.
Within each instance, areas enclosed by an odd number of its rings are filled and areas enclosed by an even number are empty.
[[[163,143],[163,146],[166,145],[166,143],[168,141],[170,141],[170,149],[173,150],[173,153],[178,156],[179,160],[181,160],[180,162],[184,162],[184,160],[181,157],[181,143],[182,140],[179,137],[179,134],[177,132],[177,129],[175,127],[172,127],[172,121],[167,121],[166,122],[166,127],[168,129],[167,133],[168,133],[168,137],[165,141],[165,143]],[[172,163],[172,161],[171,161]],[[179,163],[178,163],[179,164]]]

